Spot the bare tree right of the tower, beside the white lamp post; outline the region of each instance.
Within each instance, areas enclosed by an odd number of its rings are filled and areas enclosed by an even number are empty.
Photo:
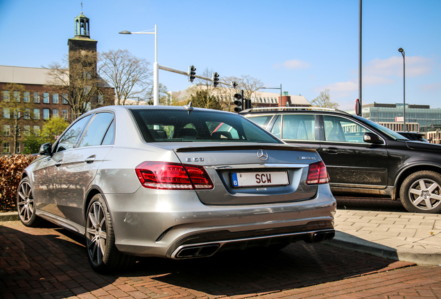
[[[148,100],[151,87],[150,62],[127,50],[110,50],[99,55],[98,73],[115,89],[116,105],[126,100]]]

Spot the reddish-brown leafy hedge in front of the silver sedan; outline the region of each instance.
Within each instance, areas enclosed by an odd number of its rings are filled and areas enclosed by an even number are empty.
[[[15,154],[0,156],[0,212],[15,211],[17,188],[21,172],[35,160],[37,156]]]

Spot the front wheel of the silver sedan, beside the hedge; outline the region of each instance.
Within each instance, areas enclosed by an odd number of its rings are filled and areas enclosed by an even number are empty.
[[[28,177],[24,177],[19,184],[16,203],[22,224],[29,227],[40,226],[42,219],[35,215],[35,201]]]

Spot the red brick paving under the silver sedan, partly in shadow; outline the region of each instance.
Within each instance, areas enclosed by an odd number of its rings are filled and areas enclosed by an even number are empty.
[[[83,239],[48,224],[0,223],[1,298],[441,298],[441,266],[416,266],[325,244],[198,260],[141,259],[90,269]]]

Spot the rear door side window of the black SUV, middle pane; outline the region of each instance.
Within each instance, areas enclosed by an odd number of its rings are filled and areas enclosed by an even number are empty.
[[[315,116],[284,114],[282,139],[315,141]]]

